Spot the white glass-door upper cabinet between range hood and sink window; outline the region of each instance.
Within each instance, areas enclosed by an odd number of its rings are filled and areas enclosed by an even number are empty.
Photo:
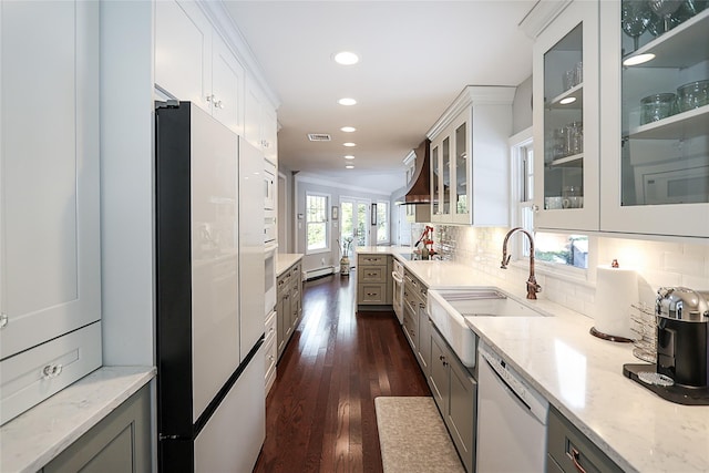
[[[431,222],[506,226],[515,88],[466,86],[427,133]]]

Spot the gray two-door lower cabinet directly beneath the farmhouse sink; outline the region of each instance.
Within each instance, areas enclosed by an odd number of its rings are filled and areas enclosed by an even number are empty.
[[[467,472],[475,466],[477,382],[431,326],[429,385]]]

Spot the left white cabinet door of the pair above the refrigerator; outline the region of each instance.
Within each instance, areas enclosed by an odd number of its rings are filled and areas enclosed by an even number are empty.
[[[212,113],[212,25],[194,1],[155,2],[155,84]]]

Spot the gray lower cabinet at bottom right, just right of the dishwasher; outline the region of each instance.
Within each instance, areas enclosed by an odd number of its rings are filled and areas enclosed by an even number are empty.
[[[547,473],[623,472],[598,446],[552,407],[549,407],[547,429]]]

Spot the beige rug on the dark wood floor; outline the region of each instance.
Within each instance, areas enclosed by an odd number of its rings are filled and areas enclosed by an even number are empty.
[[[384,473],[464,473],[433,398],[374,399]]]

